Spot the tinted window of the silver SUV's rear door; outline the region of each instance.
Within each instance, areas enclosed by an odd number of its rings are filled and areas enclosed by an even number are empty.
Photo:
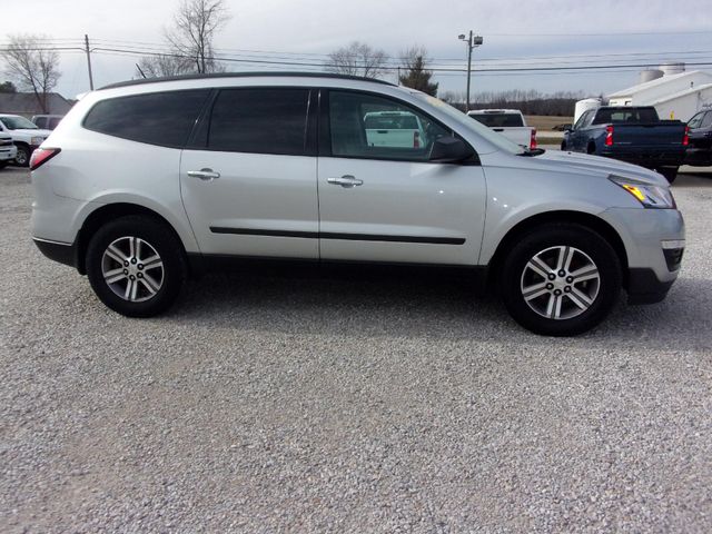
[[[226,89],[212,106],[208,149],[306,154],[309,89]]]

